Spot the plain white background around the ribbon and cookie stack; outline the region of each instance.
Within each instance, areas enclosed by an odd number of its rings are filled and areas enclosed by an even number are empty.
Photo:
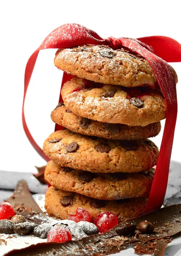
[[[178,4],[178,0],[0,1],[0,170],[34,172],[34,165],[45,164],[24,134],[21,108],[25,65],[53,29],[65,23],[79,23],[102,38],[164,35],[181,43]],[[54,131],[50,113],[59,98],[62,72],[54,66],[55,51],[40,51],[25,104],[29,129],[41,147]],[[171,158],[180,161],[181,63],[172,66],[179,83],[178,121]],[[153,139],[158,146],[162,132]]]

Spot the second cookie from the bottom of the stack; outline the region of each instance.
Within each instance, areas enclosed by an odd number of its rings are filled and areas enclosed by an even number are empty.
[[[118,200],[147,197],[154,173],[154,169],[139,173],[92,173],[58,166],[49,161],[45,169],[45,180],[54,188],[64,191],[96,199]]]

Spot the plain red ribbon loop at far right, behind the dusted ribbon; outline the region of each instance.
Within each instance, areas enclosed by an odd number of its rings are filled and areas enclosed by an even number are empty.
[[[147,44],[157,56],[167,62],[181,61],[181,44],[173,38],[155,35],[137,39]]]

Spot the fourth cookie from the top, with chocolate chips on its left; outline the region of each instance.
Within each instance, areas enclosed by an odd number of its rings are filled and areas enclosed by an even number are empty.
[[[158,148],[149,139],[106,140],[68,129],[52,133],[44,153],[61,166],[90,172],[141,172],[156,165]]]

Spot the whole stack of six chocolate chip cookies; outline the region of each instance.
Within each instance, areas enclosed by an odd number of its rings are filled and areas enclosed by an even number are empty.
[[[78,207],[92,220],[105,211],[120,221],[141,215],[158,159],[147,138],[158,135],[166,116],[150,64],[125,49],[94,45],[59,49],[54,64],[72,79],[51,113],[65,129],[43,145],[51,159],[45,209],[62,219]]]

